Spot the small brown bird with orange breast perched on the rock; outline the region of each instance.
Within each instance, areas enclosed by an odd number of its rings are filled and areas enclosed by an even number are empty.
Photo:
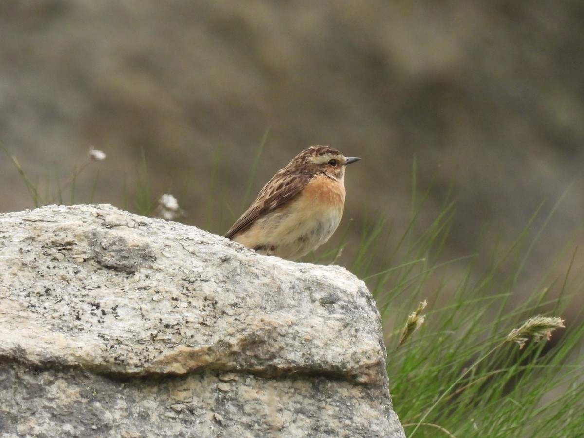
[[[316,145],[272,176],[225,237],[264,255],[297,260],[328,241],[345,205],[345,168],[359,161]]]

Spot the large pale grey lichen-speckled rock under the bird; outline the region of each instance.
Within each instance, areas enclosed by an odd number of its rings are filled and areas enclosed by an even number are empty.
[[[402,437],[337,266],[117,210],[0,215],[2,436]]]

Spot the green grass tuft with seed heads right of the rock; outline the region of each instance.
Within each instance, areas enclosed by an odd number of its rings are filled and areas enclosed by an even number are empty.
[[[387,221],[371,225],[349,265],[376,298],[390,352],[393,408],[406,436],[578,436],[584,430],[584,318],[565,323],[561,315],[578,298],[584,279],[576,277],[572,263],[564,277],[553,277],[558,260],[552,257],[550,273],[541,273],[531,296],[511,304],[534,239],[544,234],[550,217],[540,220],[538,210],[481,271],[478,255],[440,261],[453,204],[444,204],[422,231],[416,231],[420,207],[412,211],[398,237]],[[536,223],[543,225],[534,230]],[[370,260],[381,258],[392,265],[371,272]],[[540,315],[542,309],[551,315]],[[548,342],[564,324],[566,330]]]

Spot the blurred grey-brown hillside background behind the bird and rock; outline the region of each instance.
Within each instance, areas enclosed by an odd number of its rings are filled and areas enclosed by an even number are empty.
[[[404,232],[414,162],[416,196],[429,190],[416,229],[454,201],[443,260],[486,267],[564,193],[517,293],[556,262],[561,277],[573,252],[558,251],[584,243],[584,2],[2,0],[0,41],[0,141],[41,191],[92,145],[107,158],[75,201],[96,184],[94,203],[136,211],[143,151],[152,199],[172,193],[185,223],[224,234],[273,173],[326,144],[362,158],[340,264],[363,224],[387,215],[392,239]],[[32,207],[4,153],[0,186],[0,211]]]

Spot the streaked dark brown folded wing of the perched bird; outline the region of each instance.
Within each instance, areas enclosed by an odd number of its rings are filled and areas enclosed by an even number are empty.
[[[251,227],[251,225],[260,217],[276,208],[282,206],[296,196],[314,177],[314,175],[303,175],[298,173],[286,173],[282,171],[276,173],[270,179],[263,189],[259,192],[258,197],[249,206],[244,214],[237,220],[231,229],[225,234],[225,237],[232,239],[241,231]]]

